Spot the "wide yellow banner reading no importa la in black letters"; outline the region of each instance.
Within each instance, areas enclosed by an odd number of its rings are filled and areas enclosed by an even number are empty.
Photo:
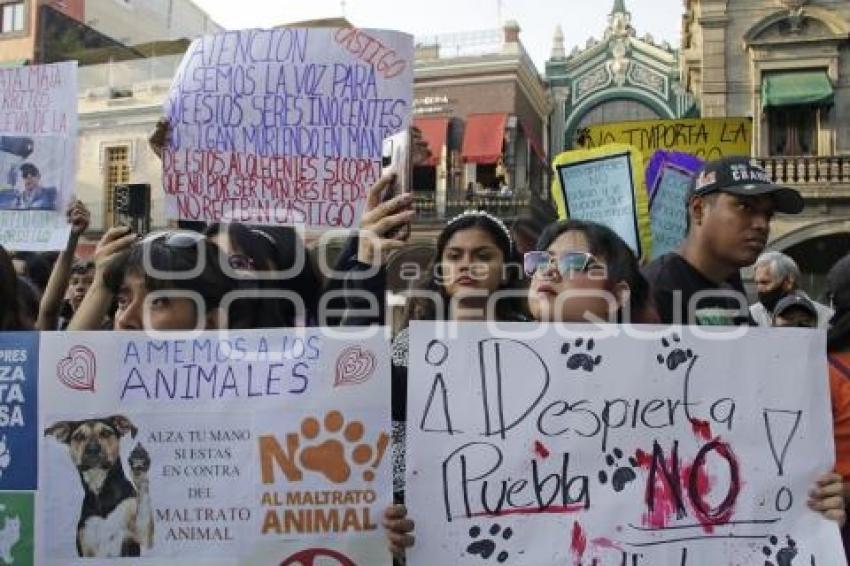
[[[596,124],[579,132],[585,149],[624,143],[643,154],[644,163],[658,149],[683,151],[710,161],[726,155],[750,155],[750,118],[636,120]]]

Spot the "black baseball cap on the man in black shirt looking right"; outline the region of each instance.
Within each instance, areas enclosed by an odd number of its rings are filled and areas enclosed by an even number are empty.
[[[776,185],[764,169],[753,165],[749,157],[730,156],[708,161],[696,172],[691,182],[690,196],[715,192],[740,196],[770,195],[776,211],[798,214],[803,210],[803,197],[791,187]]]

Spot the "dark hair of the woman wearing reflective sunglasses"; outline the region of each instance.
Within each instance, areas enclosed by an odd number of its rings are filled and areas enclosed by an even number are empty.
[[[649,283],[640,272],[635,254],[616,232],[585,220],[560,220],[549,224],[537,240],[538,250],[547,250],[561,234],[580,232],[587,240],[588,251],[604,259],[608,270],[608,290],[624,282],[629,286],[628,303],[624,307],[631,309],[631,322],[659,322],[658,313],[652,303]],[[622,308],[621,308],[622,311]],[[618,313],[621,316],[622,312]]]

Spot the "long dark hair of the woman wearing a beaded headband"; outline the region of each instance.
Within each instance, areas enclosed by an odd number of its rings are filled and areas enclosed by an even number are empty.
[[[407,326],[411,320],[435,320],[438,316],[442,316],[443,320],[448,319],[450,301],[449,297],[446,296],[445,288],[439,281],[440,271],[442,271],[439,268],[440,261],[452,236],[461,230],[469,230],[470,228],[480,228],[487,232],[502,252],[507,272],[506,280],[499,290],[521,288],[521,265],[505,225],[483,212],[467,212],[449,222],[448,226],[440,232],[437,237],[437,248],[434,250],[434,255],[425,272],[425,279],[418,285],[419,290],[439,293],[444,311],[438,313],[436,305],[428,297],[413,296],[407,302],[405,308],[403,327]],[[496,304],[496,318],[504,321],[527,320],[525,304],[525,300],[519,296],[501,299]]]

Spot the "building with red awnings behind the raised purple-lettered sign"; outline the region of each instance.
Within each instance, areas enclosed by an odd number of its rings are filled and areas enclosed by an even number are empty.
[[[423,218],[453,216],[470,200],[513,217],[546,191],[551,103],[519,33],[510,21],[417,38],[414,123],[432,153],[414,171]]]

